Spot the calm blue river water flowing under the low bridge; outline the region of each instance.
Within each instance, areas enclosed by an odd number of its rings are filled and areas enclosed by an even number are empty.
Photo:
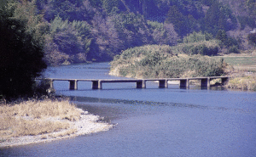
[[[51,67],[51,78],[103,79],[109,64]],[[0,149],[1,156],[256,156],[256,93],[219,88],[146,89],[135,83],[55,81],[56,93],[117,124],[108,132]]]

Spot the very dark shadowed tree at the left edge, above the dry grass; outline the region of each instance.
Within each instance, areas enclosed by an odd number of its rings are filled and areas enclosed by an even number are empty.
[[[0,8],[0,95],[32,96],[34,79],[46,68],[40,44],[16,20],[15,8]]]

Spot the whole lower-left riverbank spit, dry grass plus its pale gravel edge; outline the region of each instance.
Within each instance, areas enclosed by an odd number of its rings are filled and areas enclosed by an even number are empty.
[[[0,148],[45,143],[94,132],[113,125],[100,122],[67,100],[26,101],[0,106]]]

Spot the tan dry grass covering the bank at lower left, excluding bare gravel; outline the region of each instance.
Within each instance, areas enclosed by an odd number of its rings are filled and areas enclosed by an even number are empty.
[[[74,132],[71,121],[79,121],[82,110],[67,100],[30,100],[20,104],[1,104],[0,141],[9,137],[43,135],[67,130]],[[57,136],[57,135],[55,135]],[[60,136],[63,136],[62,134]]]

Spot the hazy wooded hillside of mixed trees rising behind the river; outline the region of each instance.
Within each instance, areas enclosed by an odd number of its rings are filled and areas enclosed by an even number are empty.
[[[218,40],[212,55],[239,53],[256,43],[255,33],[250,33],[256,27],[254,0],[4,2],[1,7],[26,25],[50,65],[110,61],[125,49],[144,45],[188,44],[186,38],[193,33]],[[186,48],[196,53],[204,45]]]

